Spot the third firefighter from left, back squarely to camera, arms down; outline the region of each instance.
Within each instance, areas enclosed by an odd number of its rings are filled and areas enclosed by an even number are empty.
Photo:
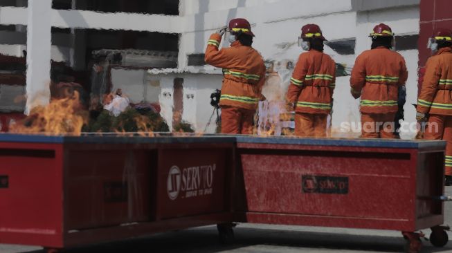
[[[405,85],[408,71],[404,57],[394,51],[389,26],[375,26],[370,37],[372,49],[356,58],[350,77],[352,96],[361,97],[361,138],[395,138],[399,88]]]

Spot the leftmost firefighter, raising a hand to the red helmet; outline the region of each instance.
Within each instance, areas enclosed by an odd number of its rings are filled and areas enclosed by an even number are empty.
[[[222,37],[228,29],[230,47],[219,50]],[[246,19],[233,19],[229,26],[210,36],[205,61],[223,68],[222,133],[251,134],[253,118],[262,96],[265,82],[264,59],[251,45],[254,34]]]

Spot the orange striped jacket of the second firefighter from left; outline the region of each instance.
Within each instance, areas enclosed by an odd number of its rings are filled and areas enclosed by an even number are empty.
[[[297,113],[328,114],[336,82],[336,64],[318,50],[302,53],[293,70],[286,100],[295,103]]]

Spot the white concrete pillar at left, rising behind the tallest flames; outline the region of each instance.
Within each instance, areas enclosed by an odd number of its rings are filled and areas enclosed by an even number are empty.
[[[51,98],[52,0],[28,1],[26,111]]]

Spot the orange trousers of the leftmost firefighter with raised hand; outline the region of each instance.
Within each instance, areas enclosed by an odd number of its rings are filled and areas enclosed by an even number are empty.
[[[255,110],[222,106],[222,133],[252,134]]]

